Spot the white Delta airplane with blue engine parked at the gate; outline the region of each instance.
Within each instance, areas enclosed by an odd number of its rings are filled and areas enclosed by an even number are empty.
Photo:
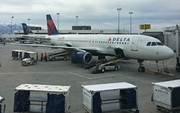
[[[37,45],[65,49],[72,53],[71,62],[90,64],[92,56],[104,59],[106,56],[121,55],[121,58],[137,59],[139,72],[145,72],[144,60],[167,60],[174,52],[160,40],[144,35],[62,35],[59,34],[50,14],[46,15],[50,45]]]

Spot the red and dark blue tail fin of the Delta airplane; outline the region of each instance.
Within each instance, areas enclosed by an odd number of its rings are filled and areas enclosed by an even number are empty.
[[[57,34],[59,34],[50,14],[46,15],[46,19],[47,19],[48,35],[57,35]]]

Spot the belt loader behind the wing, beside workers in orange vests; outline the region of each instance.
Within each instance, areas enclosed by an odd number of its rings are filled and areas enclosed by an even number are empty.
[[[67,59],[69,59],[69,53],[67,51],[48,53],[48,59],[50,61],[67,60]]]

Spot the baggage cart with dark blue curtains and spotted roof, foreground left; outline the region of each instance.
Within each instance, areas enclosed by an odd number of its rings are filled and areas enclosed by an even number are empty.
[[[71,86],[21,84],[15,88],[16,113],[68,113]]]

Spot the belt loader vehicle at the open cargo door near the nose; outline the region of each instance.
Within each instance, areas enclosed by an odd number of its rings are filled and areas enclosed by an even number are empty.
[[[118,64],[118,62],[121,59],[112,59],[112,60],[108,60],[108,61],[103,61],[100,63],[97,63],[94,67],[90,68],[91,69],[91,73],[104,73],[105,71],[117,71],[118,69],[120,69],[120,65]]]

